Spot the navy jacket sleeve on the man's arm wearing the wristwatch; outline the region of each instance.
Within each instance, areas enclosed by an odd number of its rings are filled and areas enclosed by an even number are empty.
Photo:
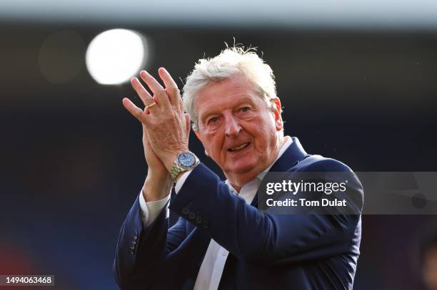
[[[350,169],[323,160],[308,170]],[[358,180],[357,180],[358,181]],[[362,187],[354,185],[362,197]],[[362,204],[361,204],[362,207]],[[203,164],[184,183],[170,209],[209,231],[211,237],[238,259],[284,264],[331,257],[351,251],[361,233],[360,214],[266,214],[258,211]],[[359,244],[359,241],[358,241]],[[358,253],[358,247],[353,249]]]

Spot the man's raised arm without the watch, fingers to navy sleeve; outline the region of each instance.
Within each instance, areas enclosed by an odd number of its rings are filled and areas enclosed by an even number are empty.
[[[145,71],[142,71],[140,76],[146,83],[149,81]],[[150,135],[149,130],[147,130],[149,123],[145,119],[154,115],[151,114],[151,110],[156,109],[153,108],[155,105],[159,108],[159,103],[163,104],[164,101],[169,102],[169,100],[165,92],[161,92],[163,94],[159,97],[152,97],[137,78],[132,78],[131,85],[143,101],[145,108],[136,107],[127,98],[124,98],[123,105],[129,113],[141,121],[144,155],[148,166],[141,195],[146,202],[154,202],[170,195],[173,180],[171,180],[169,170],[151,147],[151,139],[156,139],[156,136]],[[182,117],[184,125],[185,122],[189,124],[189,118],[185,119],[184,113],[182,113]],[[188,130],[185,128],[186,126],[183,131],[184,140],[188,140],[189,125]],[[121,289],[148,289],[149,286],[156,284],[156,273],[166,261],[166,255],[176,249],[186,237],[184,220],[179,220],[174,227],[169,229],[169,219],[166,212],[168,210],[165,207],[156,220],[144,229],[139,197],[131,207],[120,230],[114,260],[114,276]]]

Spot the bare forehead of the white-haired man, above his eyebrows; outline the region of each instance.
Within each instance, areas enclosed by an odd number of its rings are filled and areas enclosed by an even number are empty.
[[[226,78],[199,91],[195,108],[199,115],[211,109],[231,107],[241,101],[262,102],[253,84],[242,75]]]

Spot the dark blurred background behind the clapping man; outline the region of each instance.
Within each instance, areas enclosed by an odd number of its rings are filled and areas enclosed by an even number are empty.
[[[117,289],[116,239],[147,170],[121,105],[141,105],[129,79],[164,66],[182,87],[234,38],[273,68],[286,134],[307,152],[437,171],[435,1],[2,0],[0,274]],[[363,216],[354,289],[424,289],[419,245],[436,230],[437,215]]]

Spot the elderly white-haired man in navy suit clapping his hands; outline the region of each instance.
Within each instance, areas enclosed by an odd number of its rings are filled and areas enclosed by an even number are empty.
[[[121,289],[352,289],[360,214],[256,208],[263,172],[351,172],[283,135],[270,66],[253,51],[226,48],[196,64],[183,102],[166,69],[158,73],[164,86],[140,73],[152,94],[131,80],[144,110],[123,100],[143,125],[149,170],[119,235]],[[225,182],[189,151],[191,120]],[[169,209],[180,216],[171,228]]]

